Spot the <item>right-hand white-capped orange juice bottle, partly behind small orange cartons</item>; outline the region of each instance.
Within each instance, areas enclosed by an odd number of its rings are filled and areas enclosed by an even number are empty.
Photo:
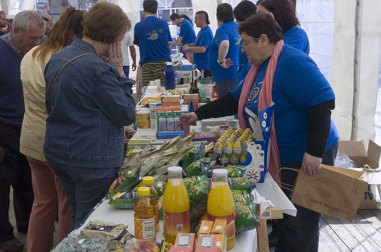
[[[226,220],[227,249],[234,247],[235,209],[232,192],[227,184],[227,170],[214,169],[207,204],[208,220]]]

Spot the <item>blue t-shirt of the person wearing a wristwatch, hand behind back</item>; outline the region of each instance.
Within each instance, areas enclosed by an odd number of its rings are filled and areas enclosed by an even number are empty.
[[[234,21],[224,22],[216,30],[216,35],[210,44],[208,56],[210,73],[215,81],[237,78],[239,37],[238,24]],[[233,65],[227,69],[221,67],[217,62],[219,44],[223,40],[229,40],[229,51],[227,52],[226,59],[230,58],[233,61]]]

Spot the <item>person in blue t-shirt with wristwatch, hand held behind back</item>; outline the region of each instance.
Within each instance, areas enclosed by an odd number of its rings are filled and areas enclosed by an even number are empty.
[[[213,76],[218,97],[227,95],[237,87],[237,67],[239,52],[238,24],[233,17],[233,8],[228,3],[217,6],[219,28],[210,45],[208,64]]]

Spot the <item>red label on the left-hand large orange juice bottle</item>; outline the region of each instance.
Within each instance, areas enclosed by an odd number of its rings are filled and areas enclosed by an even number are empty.
[[[164,233],[177,236],[177,233],[189,233],[191,229],[189,210],[181,213],[170,213],[163,211]]]

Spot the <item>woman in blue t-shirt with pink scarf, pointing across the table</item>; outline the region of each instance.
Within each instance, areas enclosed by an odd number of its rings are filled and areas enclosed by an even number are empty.
[[[251,16],[240,24],[239,32],[242,50],[254,65],[246,80],[226,96],[195,112],[182,114],[180,123],[194,125],[197,120],[238,113],[240,127],[250,127],[245,109],[258,115],[259,109],[274,102],[271,142],[276,139],[277,145],[271,147],[271,152],[274,150],[277,154],[278,149],[280,160],[272,159],[271,175],[274,177],[279,167],[290,167],[312,176],[320,171],[320,164],[332,166],[339,140],[331,120],[335,94],[315,62],[307,54],[283,43],[282,29],[268,14]],[[274,167],[278,160],[280,165]],[[272,169],[275,172],[271,172]],[[281,175],[283,183],[293,185],[297,173],[283,169]],[[288,190],[283,192],[290,195]],[[296,217],[283,214],[278,222],[280,238],[275,251],[317,252],[322,214],[295,207]]]

